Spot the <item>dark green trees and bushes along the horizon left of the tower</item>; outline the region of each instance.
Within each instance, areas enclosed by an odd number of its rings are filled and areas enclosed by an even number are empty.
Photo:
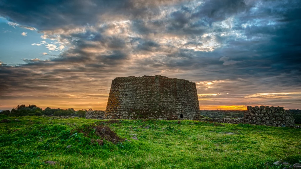
[[[39,108],[34,104],[30,104],[26,106],[25,104],[18,105],[17,108],[13,108],[11,110],[4,110],[0,112],[0,115],[9,115],[9,116],[32,116],[32,115],[53,115],[53,116],[62,116],[62,115],[72,115],[78,117],[85,117],[85,110],[75,111],[73,108],[70,109],[52,109],[51,107],[47,107],[45,110]]]

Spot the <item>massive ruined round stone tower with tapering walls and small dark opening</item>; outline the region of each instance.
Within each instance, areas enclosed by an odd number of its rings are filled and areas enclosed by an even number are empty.
[[[129,76],[112,81],[104,117],[197,119],[199,109],[197,88],[193,82],[160,75]]]

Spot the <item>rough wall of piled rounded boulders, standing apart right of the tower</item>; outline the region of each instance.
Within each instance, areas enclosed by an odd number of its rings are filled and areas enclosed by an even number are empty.
[[[292,113],[279,106],[247,106],[247,111],[244,112],[244,119],[249,124],[275,127],[293,127],[295,124]]]

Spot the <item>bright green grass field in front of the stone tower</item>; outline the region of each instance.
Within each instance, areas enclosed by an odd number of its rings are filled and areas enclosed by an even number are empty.
[[[0,117],[9,118],[9,117]],[[0,123],[0,168],[280,168],[301,160],[301,130],[249,124],[213,125],[198,121],[122,120],[27,116]],[[88,124],[110,126],[132,142],[103,146],[73,129]],[[141,127],[140,127],[141,126]],[[150,126],[148,129],[145,126]],[[225,134],[231,132],[234,134]],[[77,134],[76,134],[77,133]],[[130,137],[136,134],[139,140]],[[72,145],[70,149],[66,148]],[[44,161],[56,161],[51,166]],[[300,163],[300,162],[298,162]]]

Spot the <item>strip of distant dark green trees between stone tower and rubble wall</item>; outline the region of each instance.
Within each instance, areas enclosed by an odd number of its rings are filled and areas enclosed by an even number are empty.
[[[231,118],[244,117],[243,110],[201,110],[201,115],[210,118],[225,118],[227,116]]]

